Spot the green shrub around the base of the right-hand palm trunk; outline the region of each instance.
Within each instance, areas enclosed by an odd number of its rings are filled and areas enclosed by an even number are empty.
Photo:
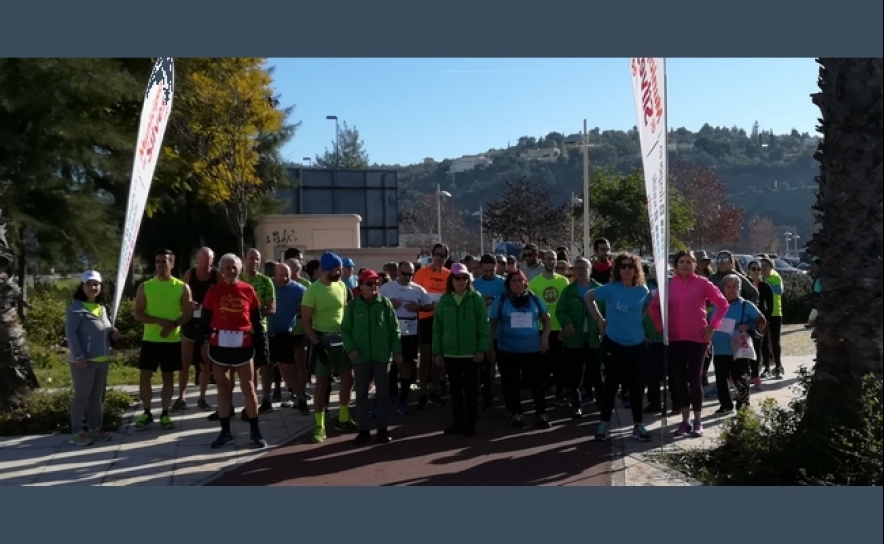
[[[744,408],[725,423],[720,445],[658,459],[706,485],[873,485],[882,468],[882,386],[863,383],[857,429],[802,433],[809,373],[802,369],[799,394],[788,407],[765,402],[760,413]]]

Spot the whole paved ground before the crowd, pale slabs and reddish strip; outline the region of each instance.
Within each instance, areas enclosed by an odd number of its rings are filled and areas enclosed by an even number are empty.
[[[785,379],[769,380],[764,391],[753,391],[753,405],[767,397],[787,403],[797,369],[812,364],[812,358],[784,357]],[[209,392],[214,403],[214,387]],[[242,406],[239,396],[235,402]],[[650,461],[648,454],[713,446],[724,418],[714,414],[717,400],[705,404],[701,439],[674,438],[678,421],[671,417],[661,437],[662,422],[649,417],[645,423],[653,440],[638,442],[629,436],[631,415],[619,403],[607,443],[590,438],[598,414],[572,421],[563,408],[550,409],[553,427],[548,430],[531,426],[533,416],[525,429],[514,430],[498,408],[480,422],[476,437],[445,436],[441,430],[450,423],[445,406],[394,414],[394,441],[361,447],[350,444],[352,435],[333,431],[325,443],[311,444],[312,415],[277,408],[261,416],[271,445],[265,450],[248,446],[248,424],[238,418],[233,420],[235,445],[210,449],[218,423],[207,421],[208,414],[195,407],[173,414],[172,431],[156,425],[136,430],[131,423],[140,407],[135,405],[121,432],[103,444],[71,446],[67,435],[0,438],[0,485],[695,485]]]

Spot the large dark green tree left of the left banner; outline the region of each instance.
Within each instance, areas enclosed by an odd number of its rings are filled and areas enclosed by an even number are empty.
[[[34,257],[77,262],[114,248],[112,217],[89,172],[105,166],[108,148],[123,145],[115,106],[134,90],[111,59],[0,59],[0,182],[7,184],[0,206],[23,289]]]

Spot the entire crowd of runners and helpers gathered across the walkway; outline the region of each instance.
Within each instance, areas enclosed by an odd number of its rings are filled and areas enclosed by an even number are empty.
[[[312,439],[323,442],[335,384],[334,429],[355,434],[356,444],[392,440],[393,411],[407,416],[449,402],[451,424],[440,430],[475,436],[498,394],[515,428],[549,428],[548,408],[574,419],[598,412],[598,440],[608,438],[619,401],[632,413],[633,436],[647,441],[645,417],[680,415],[675,434],[701,436],[704,397],[718,398],[718,413],[732,413],[749,403],[762,378],[783,377],[783,282],[765,255],[743,271],[729,251],[714,263],[703,251],[677,253],[668,267],[665,355],[655,267],[638,255],[613,255],[604,238],[593,242],[589,258],[573,261],[565,248],[534,244],[520,259],[450,257],[437,244],[428,265],[391,262],[375,271],[331,252],[305,263],[291,248],[277,263],[250,249],[216,263],[202,248],[178,279],[174,254],[157,251],[156,274],[138,287],[134,304],[144,327],[143,413],[135,427],[155,422],[151,382],[160,372],[157,422],[174,428],[170,413],[192,402],[191,368],[195,404],[220,426],[213,448],[234,441],[237,382],[240,417],[260,448],[267,445],[260,414],[286,408],[312,414]],[[85,446],[110,438],[100,419],[118,332],[108,320],[101,275],[88,271],[80,279],[65,332],[74,384],[70,442]],[[210,383],[217,386],[215,407],[206,400]],[[533,404],[530,420],[524,391]]]

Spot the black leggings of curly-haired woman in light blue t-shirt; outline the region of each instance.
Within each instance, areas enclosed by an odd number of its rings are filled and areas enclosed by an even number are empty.
[[[610,423],[617,391],[622,386],[629,393],[632,422],[641,425],[644,406],[641,401],[644,389],[645,361],[648,346],[644,342],[635,346],[621,346],[608,340],[611,357],[605,371],[605,398],[602,401],[602,421]]]

